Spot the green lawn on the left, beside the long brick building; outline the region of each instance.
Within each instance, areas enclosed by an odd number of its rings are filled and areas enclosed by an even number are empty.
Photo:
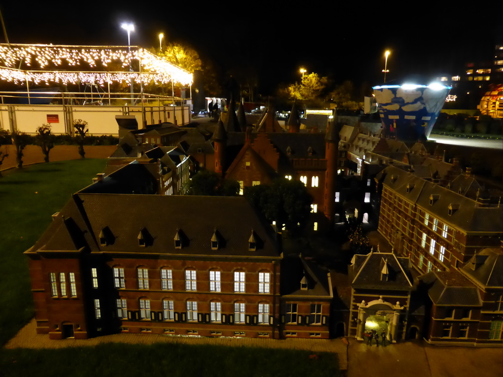
[[[31,165],[0,178],[0,345],[33,317],[30,248],[71,194],[103,171],[106,159]],[[0,373],[1,374],[1,373]]]

